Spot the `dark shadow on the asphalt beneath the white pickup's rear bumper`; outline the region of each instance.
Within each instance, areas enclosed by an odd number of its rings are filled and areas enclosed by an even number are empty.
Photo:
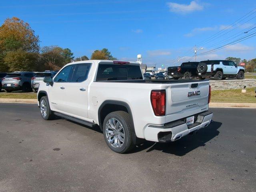
[[[206,146],[206,142],[213,140],[216,136],[218,136],[218,134],[220,133],[218,131],[218,128],[220,128],[221,125],[221,122],[214,121],[208,127],[199,130],[196,135],[187,135],[175,142],[155,143],[144,141],[142,144],[137,145],[132,153],[149,148],[146,152],[159,150],[177,156],[184,156],[188,152],[198,147]],[[206,149],[206,147],[204,149]]]

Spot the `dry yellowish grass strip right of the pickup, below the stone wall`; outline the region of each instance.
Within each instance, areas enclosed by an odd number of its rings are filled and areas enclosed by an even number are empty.
[[[211,102],[227,103],[256,103],[255,88],[246,88],[246,93],[241,89],[212,91]]]

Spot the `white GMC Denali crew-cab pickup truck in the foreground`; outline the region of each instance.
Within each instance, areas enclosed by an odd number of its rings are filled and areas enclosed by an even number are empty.
[[[87,60],[45,77],[37,98],[45,120],[98,125],[109,148],[124,153],[138,138],[171,142],[208,126],[210,92],[207,80],[144,80],[137,62]]]

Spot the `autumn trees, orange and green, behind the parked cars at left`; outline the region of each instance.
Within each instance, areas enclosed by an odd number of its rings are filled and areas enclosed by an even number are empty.
[[[117,60],[106,48],[95,50],[90,59]],[[59,70],[80,60],[89,58],[74,58],[69,48],[40,47],[39,36],[19,18],[7,18],[0,26],[0,72]]]

